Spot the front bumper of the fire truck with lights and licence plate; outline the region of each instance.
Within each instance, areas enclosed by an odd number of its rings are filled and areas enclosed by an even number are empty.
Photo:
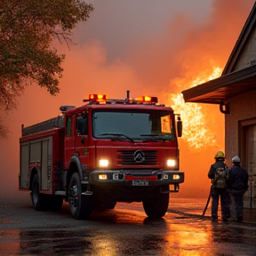
[[[101,178],[101,179],[100,179]],[[184,182],[184,172],[180,171],[116,171],[99,170],[89,174],[89,181],[95,186],[111,187],[162,187],[174,185],[173,190],[177,192],[179,184]]]

